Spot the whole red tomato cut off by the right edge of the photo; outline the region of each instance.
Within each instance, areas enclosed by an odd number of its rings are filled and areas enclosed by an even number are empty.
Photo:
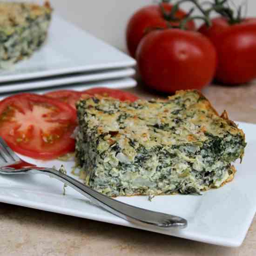
[[[256,78],[256,19],[229,25],[222,17],[212,27],[200,27],[216,47],[216,80],[226,84],[246,83]]]

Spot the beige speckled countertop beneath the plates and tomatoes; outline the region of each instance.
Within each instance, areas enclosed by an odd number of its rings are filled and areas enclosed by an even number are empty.
[[[138,87],[146,98],[158,96]],[[203,93],[217,111],[256,123],[256,82],[239,87],[209,86]],[[162,96],[162,95],[161,95]],[[255,256],[256,218],[243,245],[225,248],[103,222],[0,203],[2,256]]]

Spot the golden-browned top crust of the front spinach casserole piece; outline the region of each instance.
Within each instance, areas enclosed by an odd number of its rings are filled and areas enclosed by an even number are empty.
[[[85,120],[88,128],[96,129],[98,135],[112,134],[104,138],[108,146],[118,141],[131,159],[136,146],[130,146],[130,139],[150,149],[160,144],[204,142],[208,140],[206,134],[220,138],[227,134],[244,136],[242,130],[217,115],[209,101],[196,91],[180,91],[168,100],[135,103],[88,98],[87,105],[90,106]]]

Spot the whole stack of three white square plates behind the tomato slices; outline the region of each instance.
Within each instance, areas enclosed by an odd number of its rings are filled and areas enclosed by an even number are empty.
[[[136,86],[135,60],[54,15],[44,46],[0,70],[0,94],[38,89]]]

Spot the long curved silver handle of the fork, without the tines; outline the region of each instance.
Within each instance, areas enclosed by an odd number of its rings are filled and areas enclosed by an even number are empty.
[[[19,172],[19,171],[18,171]],[[187,227],[187,221],[181,217],[169,215],[161,212],[155,212],[147,209],[138,208],[91,189],[87,185],[75,180],[69,175],[63,174],[52,168],[24,168],[19,173],[30,172],[34,174],[45,174],[52,176],[59,181],[72,187],[82,195],[88,197],[96,205],[108,212],[121,217],[129,222],[135,222],[143,225],[149,225],[159,228],[184,229]],[[15,171],[17,173],[17,170]]]

